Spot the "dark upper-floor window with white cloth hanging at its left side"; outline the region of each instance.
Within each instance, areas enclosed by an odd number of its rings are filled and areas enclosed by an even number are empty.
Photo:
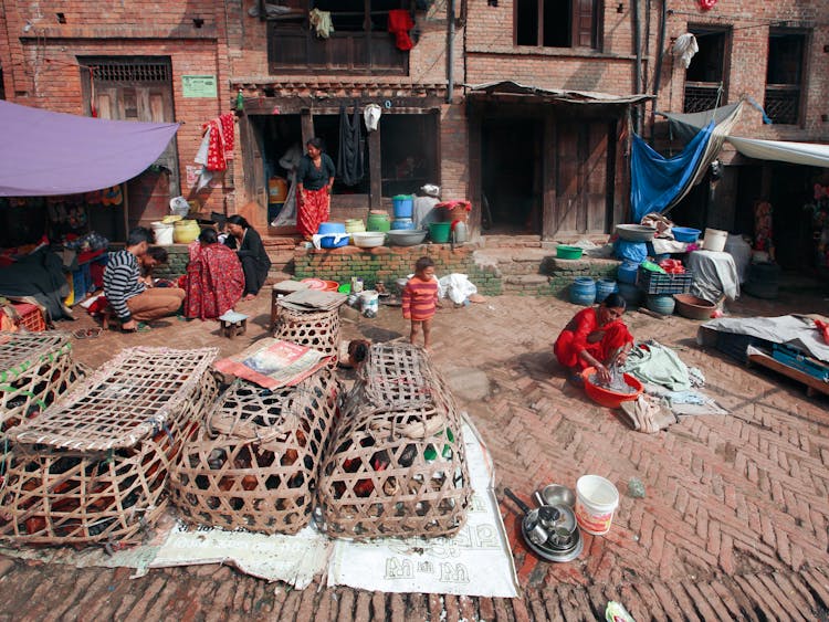
[[[690,29],[700,51],[691,59],[685,71],[683,112],[699,113],[722,106],[726,101],[724,30]]]

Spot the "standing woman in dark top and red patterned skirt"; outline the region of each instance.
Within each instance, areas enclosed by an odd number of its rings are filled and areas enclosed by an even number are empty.
[[[323,154],[323,141],[312,138],[305,145],[307,154],[296,172],[296,229],[306,240],[317,232],[321,222],[330,213],[330,191],[334,187],[334,161]]]

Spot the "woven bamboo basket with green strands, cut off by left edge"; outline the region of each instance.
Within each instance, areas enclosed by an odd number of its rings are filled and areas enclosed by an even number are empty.
[[[66,333],[0,333],[0,433],[45,410],[86,373]]]

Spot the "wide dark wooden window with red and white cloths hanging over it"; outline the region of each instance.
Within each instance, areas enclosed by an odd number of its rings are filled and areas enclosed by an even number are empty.
[[[267,24],[267,60],[271,73],[330,70],[337,73],[408,73],[409,55],[395,45],[388,32],[389,11],[406,9],[407,0],[291,0],[294,19]],[[334,32],[316,35],[307,12],[330,13]]]

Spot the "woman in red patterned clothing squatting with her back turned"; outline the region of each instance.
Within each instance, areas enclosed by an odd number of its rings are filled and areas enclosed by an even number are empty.
[[[185,276],[185,316],[216,318],[233,308],[244,291],[244,273],[237,254],[212,229],[190,243],[190,263]]]

